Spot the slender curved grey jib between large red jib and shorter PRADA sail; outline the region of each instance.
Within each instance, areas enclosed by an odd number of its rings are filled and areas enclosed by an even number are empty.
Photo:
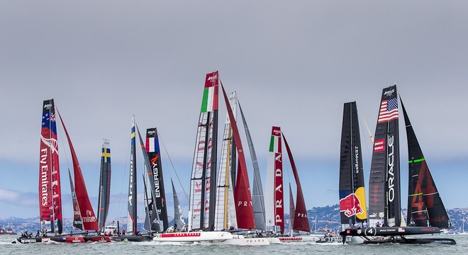
[[[247,127],[244,113],[239,103],[240,115],[244,124],[245,136],[247,137],[247,144],[249,145],[250,158],[254,169],[253,187],[252,187],[252,203],[254,211],[255,228],[266,230],[265,227],[265,203],[263,198],[262,178],[260,177],[260,167],[257,162],[257,154],[255,154],[255,147],[253,146],[252,137]]]

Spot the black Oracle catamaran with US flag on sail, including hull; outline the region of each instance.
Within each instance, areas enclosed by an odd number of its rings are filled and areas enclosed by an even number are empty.
[[[410,219],[411,226],[406,226],[401,217],[398,106],[399,100],[396,85],[384,89],[382,91],[377,128],[374,135],[374,151],[372,153],[371,173],[369,177],[370,227],[345,229],[340,232],[340,235],[343,237],[347,235],[362,236],[367,239],[364,241],[364,244],[381,242],[399,242],[403,244],[436,242],[440,244],[456,244],[453,239],[408,239],[405,237],[411,234],[437,234],[440,233],[440,229],[437,226],[427,224],[423,226],[417,225],[416,222],[413,224],[415,217],[411,216],[413,215],[412,212],[408,212],[408,219]],[[422,178],[424,175],[428,176],[428,169],[424,167],[425,159],[423,159],[419,146],[416,146],[416,136],[411,128],[404,108],[403,115],[405,115],[405,118],[408,120],[406,122],[408,154],[410,159],[410,190],[408,191],[410,193],[408,203],[410,204],[408,204],[408,208],[412,208],[413,200],[422,202],[422,200],[418,199],[423,197],[423,194],[420,194],[420,192],[416,190],[418,185],[419,187],[423,187],[423,184],[416,183],[415,185],[415,181],[418,181],[418,174],[423,175],[421,176]],[[411,128],[410,130],[408,130],[408,125]],[[414,165],[420,162],[423,162],[423,164]],[[423,165],[423,167],[421,167],[421,165]],[[412,167],[413,169],[417,169],[413,173],[411,170]],[[413,178],[415,173],[416,178]],[[415,188],[411,188],[412,186]],[[433,188],[435,188],[435,185]],[[415,193],[415,191],[418,193]],[[424,192],[425,191],[423,191],[423,193]],[[429,193],[426,194],[431,195]],[[432,199],[433,196],[429,196],[429,198]],[[442,200],[440,200],[440,203],[442,203]],[[426,206],[426,208],[427,207],[428,206]],[[416,212],[416,215],[418,215],[418,212]],[[369,237],[374,236],[389,238],[369,239]]]

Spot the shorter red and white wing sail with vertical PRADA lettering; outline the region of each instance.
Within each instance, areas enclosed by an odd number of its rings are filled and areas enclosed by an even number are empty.
[[[265,183],[265,220],[268,231],[284,233],[281,128],[272,127]],[[279,229],[277,228],[279,227]]]

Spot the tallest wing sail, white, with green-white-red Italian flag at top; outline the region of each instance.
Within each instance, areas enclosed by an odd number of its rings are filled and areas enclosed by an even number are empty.
[[[191,169],[189,229],[214,229],[218,140],[218,72],[206,74],[194,162]]]

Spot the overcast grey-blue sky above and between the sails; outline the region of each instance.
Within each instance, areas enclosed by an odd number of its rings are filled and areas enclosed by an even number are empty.
[[[282,128],[307,208],[338,203],[345,102],[357,101],[369,179],[363,124],[374,132],[381,91],[394,84],[445,206],[466,208],[467,10],[466,1],[0,1],[0,217],[39,215],[40,116],[49,98],[95,208],[107,138],[109,217],[126,215],[135,115],[140,130],[158,128],[167,196],[172,178],[186,212],[204,79],[216,70],[226,91],[237,91],[263,178],[272,125]],[[72,217],[62,135],[64,217]],[[290,167],[284,178],[294,179]],[[406,178],[401,186],[406,208]],[[170,197],[168,205],[172,213]]]

